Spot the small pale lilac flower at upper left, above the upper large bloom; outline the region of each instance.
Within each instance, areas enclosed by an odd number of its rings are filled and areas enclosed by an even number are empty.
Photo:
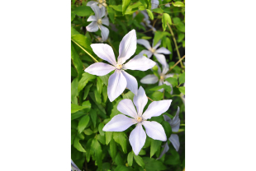
[[[92,8],[92,11],[95,13],[95,16],[88,17],[87,21],[92,21],[92,23],[86,27],[86,30],[88,30],[89,32],[96,32],[98,29],[102,30],[102,41],[106,41],[109,35],[109,30],[107,29],[107,27],[103,25],[108,26],[109,21],[107,16],[105,16],[105,9],[100,9],[99,7],[97,7],[96,4],[93,4],[90,7]],[[105,17],[102,18],[103,16]]]

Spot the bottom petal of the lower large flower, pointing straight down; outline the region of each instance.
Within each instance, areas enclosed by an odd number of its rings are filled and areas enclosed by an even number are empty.
[[[141,126],[141,123],[138,123],[132,132],[130,132],[130,146],[134,151],[135,155],[139,155],[140,150],[145,145],[146,133]]]

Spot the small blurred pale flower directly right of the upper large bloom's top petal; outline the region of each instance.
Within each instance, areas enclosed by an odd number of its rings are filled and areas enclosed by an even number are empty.
[[[147,55],[147,57],[148,58],[151,58],[151,56],[154,54],[154,56],[155,56],[155,58],[157,58],[158,59],[158,61],[164,66],[164,67],[168,67],[167,65],[167,62],[166,62],[166,59],[165,59],[165,57],[164,57],[164,54],[170,54],[171,52],[168,50],[168,49],[166,49],[166,48],[159,48],[159,49],[157,49],[158,47],[159,47],[159,45],[161,44],[161,40],[159,40],[159,42],[157,43],[157,44],[155,44],[155,46],[154,46],[154,42],[153,42],[153,44],[152,44],[152,47],[149,45],[149,41],[148,40],[146,40],[146,39],[137,39],[137,43],[138,44],[141,44],[141,45],[144,45],[145,46],[145,48],[146,49],[148,49],[148,50],[142,50],[141,52],[140,52],[140,54],[146,54]],[[164,53],[164,54],[159,54],[159,53]]]

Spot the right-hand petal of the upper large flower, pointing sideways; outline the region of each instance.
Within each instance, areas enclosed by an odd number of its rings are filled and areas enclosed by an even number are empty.
[[[146,71],[155,66],[155,62],[142,55],[136,55],[135,58],[130,59],[125,65],[124,69]]]

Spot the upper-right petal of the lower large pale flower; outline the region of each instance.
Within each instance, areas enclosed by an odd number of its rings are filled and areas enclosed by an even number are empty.
[[[151,117],[158,117],[169,109],[172,101],[172,99],[164,99],[152,102],[151,104],[149,104],[148,109],[146,109],[142,117],[145,119],[149,119]]]

